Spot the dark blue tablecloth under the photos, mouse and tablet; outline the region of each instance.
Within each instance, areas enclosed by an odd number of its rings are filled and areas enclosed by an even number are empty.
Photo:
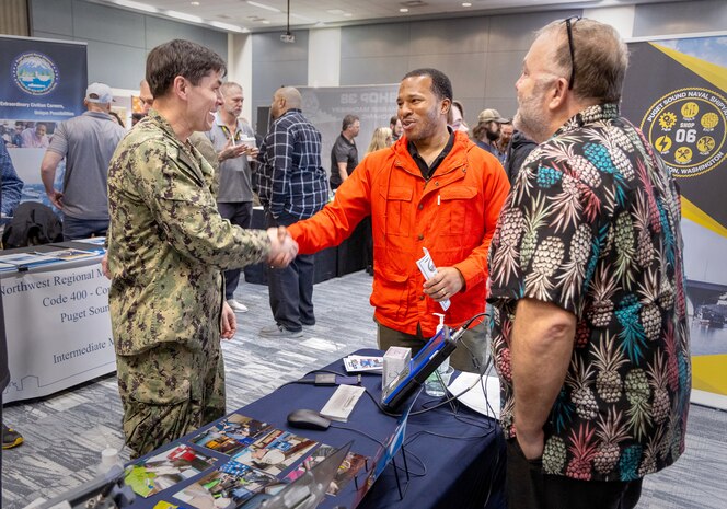
[[[355,354],[382,355],[380,350],[370,349],[359,350]],[[323,369],[345,373],[343,360],[337,360]],[[377,400],[380,400],[380,375],[364,374],[362,384]],[[335,386],[288,384],[235,413],[269,423],[278,429],[291,431],[328,446],[341,447],[354,440],[353,452],[373,458],[380,446],[366,435],[381,442],[385,441],[396,426],[396,417],[383,414],[366,394],[358,401],[348,423],[333,423],[332,427],[325,431],[296,429],[288,426],[286,417],[291,410],[297,408],[321,409],[335,389]],[[416,415],[416,412],[431,407],[439,401],[427,396],[422,391],[412,409],[414,415],[408,417],[404,439],[409,471],[408,481],[403,472],[404,462],[401,452],[395,456],[400,471],[399,478],[402,488],[405,489],[404,498],[401,499],[399,495],[395,467],[393,464],[389,464],[358,506],[359,508],[491,509],[505,507],[503,493],[505,442],[499,427],[493,419],[471,412],[462,405],[455,405],[457,416],[450,405]],[[231,456],[192,442],[193,437],[198,436],[200,431],[210,426],[160,448],[149,455],[159,454],[178,444],[189,444],[204,454],[218,458],[215,465],[159,495],[146,499],[137,497],[134,508],[152,508],[160,500],[185,506],[173,495],[186,485],[208,475],[212,470],[219,468],[231,459]],[[295,470],[298,463],[281,472],[278,477],[285,477],[290,470]],[[369,467],[371,467],[371,461],[368,462]],[[359,486],[366,482],[366,472],[359,473],[356,479]],[[337,497],[326,497],[320,507],[350,508],[355,498],[356,485],[351,482]]]

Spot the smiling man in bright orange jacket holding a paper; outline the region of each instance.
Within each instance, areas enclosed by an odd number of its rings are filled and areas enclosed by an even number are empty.
[[[416,354],[436,332],[441,301],[451,302],[445,316],[451,327],[485,311],[487,250],[510,185],[494,155],[448,129],[451,102],[452,85],[442,72],[408,72],[396,100],[404,136],[368,155],[333,203],[289,227],[300,253],[314,253],[339,244],[371,217],[371,304],[384,350],[395,345]],[[416,265],[423,247],[438,268],[427,281]],[[476,371],[486,338],[481,321],[465,333],[468,348],[458,347],[451,365]]]

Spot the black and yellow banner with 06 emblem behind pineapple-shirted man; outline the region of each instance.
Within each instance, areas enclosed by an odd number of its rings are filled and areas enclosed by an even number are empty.
[[[693,386],[727,405],[727,36],[631,43],[622,113],[682,194]],[[707,402],[708,403],[708,402]]]

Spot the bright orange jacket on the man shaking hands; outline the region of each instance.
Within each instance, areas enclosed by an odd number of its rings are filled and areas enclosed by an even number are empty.
[[[510,189],[499,161],[455,134],[450,153],[425,180],[402,137],[369,154],[310,219],[289,227],[301,254],[338,245],[371,216],[377,322],[425,337],[435,334],[442,309],[424,293],[416,261],[431,254],[437,267],[455,267],[465,285],[453,296],[445,323],[457,327],[485,310],[487,250]]]

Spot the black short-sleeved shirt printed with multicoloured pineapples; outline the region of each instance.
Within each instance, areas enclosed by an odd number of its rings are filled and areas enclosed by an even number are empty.
[[[691,368],[680,219],[671,175],[614,104],[578,113],[526,160],[493,238],[488,301],[506,437],[517,426],[518,299],[577,319],[544,426],[546,473],[632,481],[683,451]]]

